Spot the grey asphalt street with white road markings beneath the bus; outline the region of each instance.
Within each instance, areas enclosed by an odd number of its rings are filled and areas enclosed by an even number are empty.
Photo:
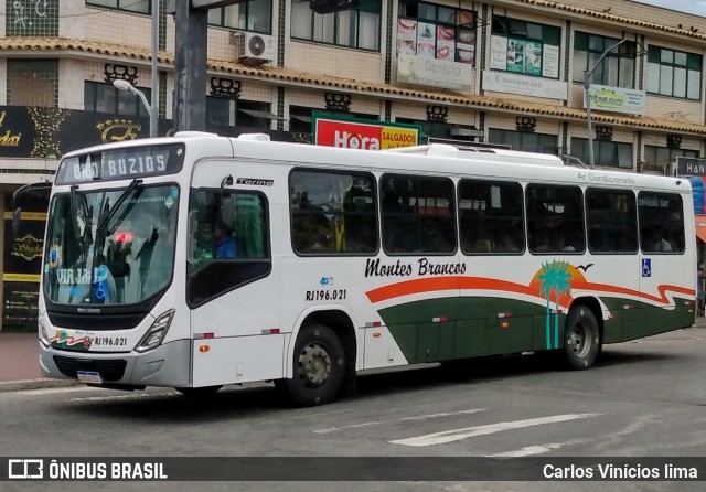
[[[699,457],[706,452],[706,330],[607,345],[586,372],[525,355],[365,375],[355,397],[288,408],[271,385],[189,400],[172,389],[0,394],[6,457]],[[343,460],[342,460],[343,461]],[[343,466],[343,464],[342,464]],[[699,477],[700,480],[704,478]],[[351,491],[703,490],[699,482],[327,482]],[[9,488],[7,485],[10,485]],[[227,485],[227,486],[226,486]],[[101,483],[94,490],[193,490]],[[46,483],[4,483],[40,491]],[[52,490],[89,490],[53,483]],[[203,482],[199,490],[310,490],[308,482]]]

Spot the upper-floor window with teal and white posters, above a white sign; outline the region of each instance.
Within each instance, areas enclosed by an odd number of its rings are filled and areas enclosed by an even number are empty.
[[[490,68],[559,78],[560,40],[560,28],[494,15]]]

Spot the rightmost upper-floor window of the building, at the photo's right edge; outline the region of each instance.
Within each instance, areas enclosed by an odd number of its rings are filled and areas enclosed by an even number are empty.
[[[648,93],[700,100],[702,64],[702,55],[650,46]]]

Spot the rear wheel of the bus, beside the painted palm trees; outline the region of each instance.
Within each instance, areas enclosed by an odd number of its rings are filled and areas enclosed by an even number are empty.
[[[564,327],[564,356],[576,371],[591,368],[600,351],[600,332],[596,315],[586,306],[569,311]]]

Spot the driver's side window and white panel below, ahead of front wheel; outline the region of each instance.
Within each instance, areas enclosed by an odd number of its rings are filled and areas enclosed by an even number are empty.
[[[285,335],[267,191],[236,184],[191,192],[186,297],[194,386],[281,377]]]

